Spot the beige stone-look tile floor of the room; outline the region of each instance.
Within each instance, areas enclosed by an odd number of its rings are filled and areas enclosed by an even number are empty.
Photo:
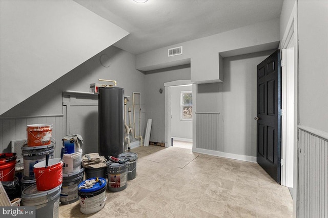
[[[190,149],[138,147],[137,176],[93,214],[79,202],[60,205],[59,217],[292,217],[288,188],[257,163],[192,153]]]

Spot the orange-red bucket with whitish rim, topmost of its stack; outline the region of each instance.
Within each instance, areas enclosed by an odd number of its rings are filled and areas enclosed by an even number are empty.
[[[27,125],[28,146],[46,146],[51,143],[52,124]]]

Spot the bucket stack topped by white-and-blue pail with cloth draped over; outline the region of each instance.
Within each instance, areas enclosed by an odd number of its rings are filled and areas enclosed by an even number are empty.
[[[77,186],[83,181],[84,168],[81,167],[83,139],[80,135],[71,134],[63,138],[64,166],[63,186],[61,187],[61,204],[71,204],[78,200]]]

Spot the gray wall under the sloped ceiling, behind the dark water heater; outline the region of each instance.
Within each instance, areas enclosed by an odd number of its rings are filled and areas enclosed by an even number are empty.
[[[107,55],[108,59],[106,59],[105,62],[110,64],[110,67],[104,67],[100,64],[99,58],[103,54]],[[23,73],[24,72],[22,72],[22,74]],[[74,90],[89,92],[90,83],[96,83],[98,79],[117,80],[117,86],[125,88],[125,95],[130,95],[131,97],[132,92],[140,92],[141,104],[145,104],[145,75],[135,69],[135,56],[115,46],[110,46],[88,61],[77,66],[68,72],[68,74],[54,81],[43,90],[32,95],[24,102],[2,114],[0,116],[0,138],[5,138],[6,140],[0,141],[0,151],[8,147],[10,140],[21,139],[16,138],[14,134],[12,134],[15,129],[26,129],[26,124],[15,124],[15,122],[10,120],[22,116],[38,117],[41,115],[49,116],[63,114],[63,91]],[[132,99],[130,100],[128,107],[132,107]],[[94,117],[96,117],[96,115]],[[144,126],[145,113],[141,114],[141,117],[141,125]],[[9,122],[12,124],[10,128],[11,131],[6,131],[6,127],[4,129],[3,124],[5,120],[9,120],[6,121],[6,123]],[[97,122],[97,119],[94,120],[94,122]],[[136,123],[138,124],[138,119]],[[93,125],[94,124],[91,124],[90,126]],[[62,128],[64,128],[64,126],[65,122]],[[8,134],[11,136],[9,137]],[[59,138],[61,139],[63,136],[59,136]],[[22,136],[19,135],[19,137]],[[97,148],[96,143],[89,144],[88,146]]]

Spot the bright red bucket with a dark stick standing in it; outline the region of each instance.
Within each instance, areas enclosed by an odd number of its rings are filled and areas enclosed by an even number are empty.
[[[63,182],[63,161],[60,158],[49,159],[34,164],[36,187],[39,191],[50,190]]]

